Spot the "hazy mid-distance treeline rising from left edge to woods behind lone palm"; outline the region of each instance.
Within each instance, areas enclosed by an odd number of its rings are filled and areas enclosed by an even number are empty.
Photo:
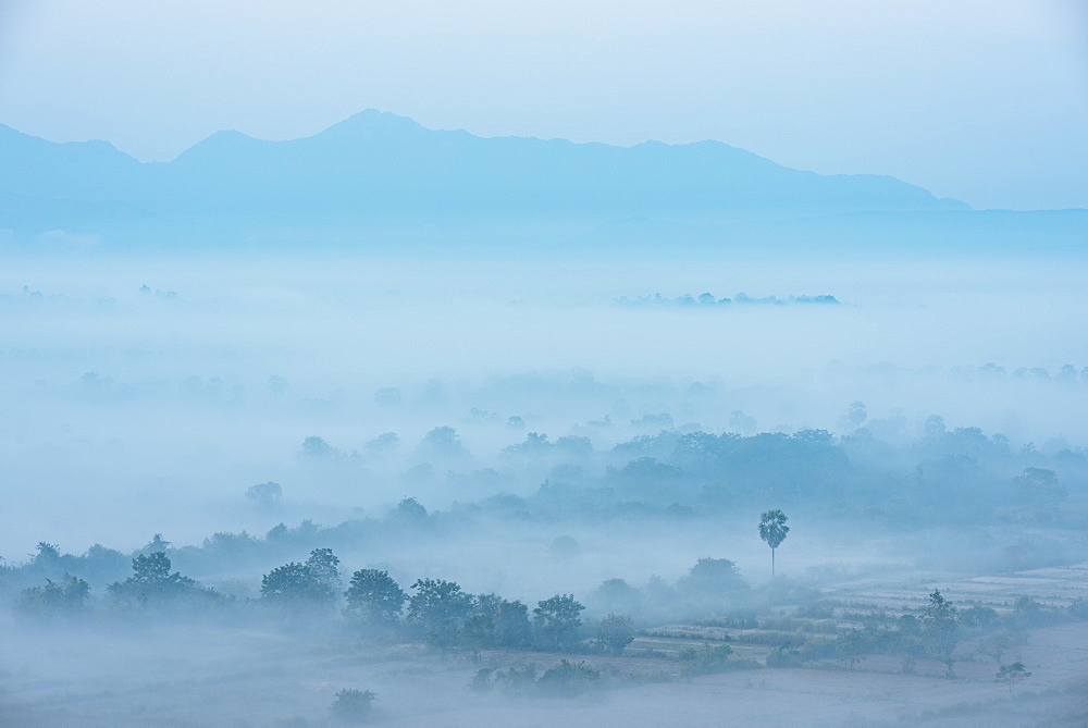
[[[314,452],[306,457],[327,457],[314,440],[320,439],[307,440]],[[436,428],[425,440],[429,447],[422,455],[430,453],[428,457],[463,451],[453,428]],[[977,428],[947,430],[940,418],[930,418],[927,436],[905,447],[890,445],[865,428],[839,437],[823,430],[744,437],[668,429],[606,452],[595,451],[582,437],[552,441],[529,433],[522,443],[503,451],[500,460],[512,472],[546,474],[531,495],[500,492],[434,511],[406,497],[380,517],[334,526],[280,523],[263,535],[223,531],[176,548],[157,535],[132,554],[95,544],[75,555],[42,541],[26,563],[0,560],[0,594],[39,585],[44,579],[60,583],[64,573],[95,585],[123,581],[134,556],[157,552],[166,553],[181,571],[203,577],[263,571],[318,547],[356,553],[399,543],[441,544],[496,522],[560,533],[564,523],[617,533],[667,532],[717,523],[739,509],[767,503],[802,509],[809,521],[841,519],[858,535],[866,529],[879,533],[918,525],[1060,528],[1083,522],[1088,495],[1084,448],[1014,447],[1002,435],[987,436]],[[473,478],[499,479],[499,473],[484,469],[448,478],[449,486],[457,489]],[[276,513],[289,495],[289,484],[274,482],[239,489],[239,498],[265,514]],[[1039,539],[1037,546],[994,552],[988,563],[992,568],[1023,569],[1075,557],[1061,543]],[[577,556],[578,544],[568,546],[568,556]],[[564,557],[561,551],[557,558]]]

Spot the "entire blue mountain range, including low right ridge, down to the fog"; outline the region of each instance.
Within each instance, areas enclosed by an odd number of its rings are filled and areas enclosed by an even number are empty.
[[[287,141],[219,132],[169,162],[0,125],[0,238],[58,232],[176,250],[1065,255],[1085,251],[1088,210],[973,210],[718,141],[483,138],[378,111]]]

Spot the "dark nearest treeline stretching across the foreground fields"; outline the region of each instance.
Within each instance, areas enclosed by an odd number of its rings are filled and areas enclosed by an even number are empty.
[[[520,600],[469,593],[444,579],[417,579],[406,590],[383,569],[358,569],[345,583],[339,564],[331,548],[316,548],[305,562],[290,562],[263,575],[259,597],[239,600],[173,571],[166,554],[156,552],[132,559],[132,575],[109,584],[97,605],[88,582],[65,575],[23,589],[14,610],[22,618],[51,625],[77,625],[96,617],[149,622],[221,617],[245,625],[261,619],[292,630],[334,626],[368,641],[420,642],[443,654],[475,657],[483,650],[620,655],[639,633],[636,620],[628,614],[609,613],[586,625],[585,606],[573,594],[555,594],[530,609]],[[638,609],[650,591],[613,579],[595,596]],[[943,664],[951,676],[962,659],[991,658],[1001,665],[1024,642],[1029,628],[1088,619],[1088,600],[1083,597],[1058,607],[1019,596],[999,613],[989,606],[956,607],[940,590],[929,595],[918,614],[860,613],[836,608],[817,590],[789,580],[753,593],[727,559],[700,559],[678,582],[672,599],[680,592],[706,599],[705,614],[716,616],[701,624],[741,630],[734,641],[769,649],[767,667],[839,663],[853,669],[868,655],[898,655],[905,674],[914,673],[917,661],[925,658]],[[783,604],[791,606],[783,609]],[[705,636],[697,639],[704,641],[702,647],[685,647],[672,657],[680,677],[758,666],[732,657],[729,644],[710,644]],[[728,633],[719,639],[730,641]],[[970,652],[960,649],[967,640],[974,645]],[[665,657],[652,649],[635,656],[640,655]],[[482,669],[473,689],[564,693],[582,690],[599,677],[583,664],[565,663],[554,669],[558,673],[540,679],[535,668]]]

